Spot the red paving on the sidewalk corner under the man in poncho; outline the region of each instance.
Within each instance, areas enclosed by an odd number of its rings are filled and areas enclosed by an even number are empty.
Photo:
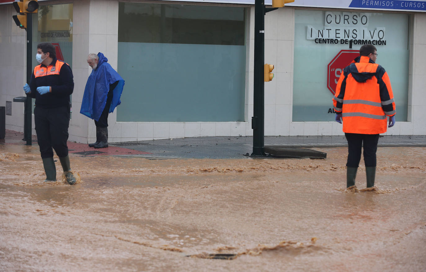
[[[12,145],[25,145],[26,141],[23,141],[24,134],[22,132],[16,132],[13,130],[6,129],[5,139],[0,139],[0,143],[12,144]],[[32,143],[37,144],[37,136],[32,135]],[[95,149],[89,147],[87,143],[74,143],[68,141],[69,153],[74,155],[85,156],[111,156],[111,155],[143,155],[152,154],[149,152],[143,152],[123,147],[108,146],[105,148]]]

